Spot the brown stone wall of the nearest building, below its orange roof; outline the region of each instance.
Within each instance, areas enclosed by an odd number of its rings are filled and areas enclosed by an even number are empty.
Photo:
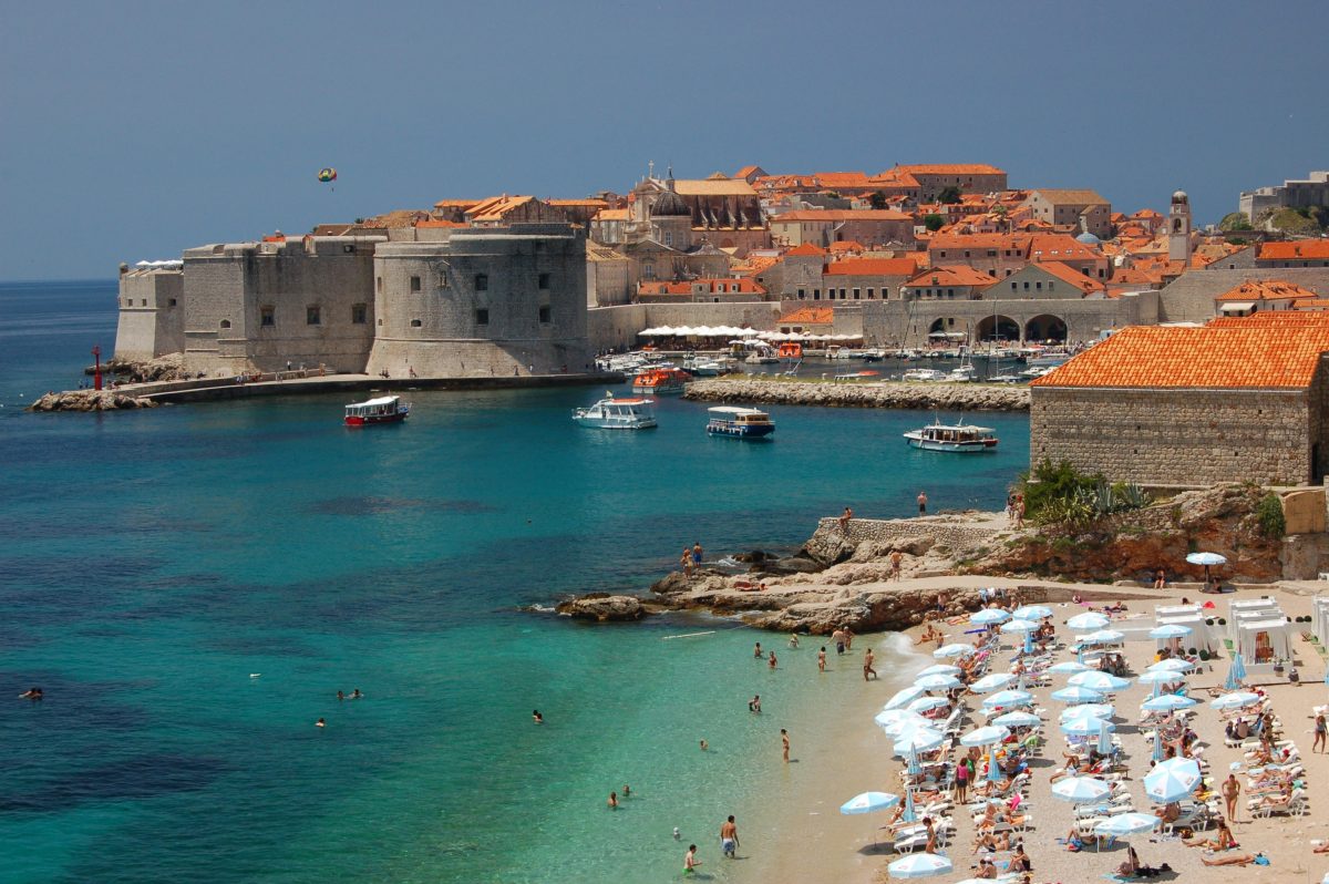
[[[1302,391],[1034,387],[1029,456],[1143,485],[1297,485],[1308,421]]]

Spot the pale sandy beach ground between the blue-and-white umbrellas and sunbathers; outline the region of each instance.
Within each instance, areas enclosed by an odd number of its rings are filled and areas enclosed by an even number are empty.
[[[945,578],[929,578],[938,586],[953,582]],[[982,578],[991,586],[1014,586],[1017,584],[1029,585],[1031,581],[1013,581],[999,578]],[[910,581],[905,581],[908,586]],[[1037,581],[1035,581],[1037,582]],[[897,584],[898,585],[898,584]],[[1074,585],[1058,585],[1061,589],[1074,589]],[[1120,598],[1127,606],[1126,615],[1114,619],[1112,626],[1126,633],[1124,657],[1130,665],[1132,677],[1138,677],[1154,662],[1156,642],[1148,638],[1148,629],[1154,626],[1154,606],[1176,604],[1181,597],[1192,601],[1212,600],[1217,606],[1215,615],[1225,615],[1228,604],[1233,600],[1273,597],[1289,617],[1298,617],[1310,613],[1310,598],[1321,589],[1316,584],[1278,584],[1269,586],[1240,588],[1235,594],[1197,596],[1197,586],[1180,585],[1170,586],[1163,593],[1151,589],[1118,588],[1103,585],[1086,585],[1086,592],[1092,592],[1095,605],[1100,606],[1104,598]],[[1164,596],[1166,598],[1156,598]],[[1069,638],[1071,630],[1065,626],[1065,621],[1078,613],[1087,610],[1070,602],[1053,602],[1049,605],[1054,611],[1053,622],[1058,627],[1058,639]],[[949,626],[946,631],[952,638],[961,637],[968,629],[965,625]],[[917,630],[910,630],[917,633]],[[1201,876],[1212,881],[1318,881],[1329,871],[1329,855],[1316,855],[1312,852],[1312,843],[1320,839],[1329,840],[1329,826],[1324,824],[1326,804],[1316,794],[1314,784],[1326,782],[1329,776],[1329,755],[1312,754],[1312,707],[1329,702],[1329,689],[1325,687],[1325,661],[1317,650],[1300,637],[1300,629],[1294,630],[1293,650],[1296,654],[1296,667],[1300,671],[1301,682],[1289,683],[1285,678],[1271,682],[1248,681],[1248,687],[1265,691],[1272,699],[1272,709],[1281,719],[1282,738],[1294,740],[1305,764],[1305,778],[1310,786],[1310,812],[1305,816],[1275,815],[1268,819],[1252,820],[1245,810],[1247,796],[1243,794],[1241,812],[1237,822],[1232,824],[1232,832],[1240,843],[1240,848],[1232,853],[1263,852],[1269,859],[1269,865],[1249,867],[1207,867],[1201,863],[1205,856],[1203,848],[1188,848],[1176,837],[1155,831],[1148,835],[1139,835],[1130,839],[1135,845],[1140,861],[1152,867],[1167,863],[1172,873],[1164,872],[1160,880],[1187,879],[1199,880]],[[805,639],[808,643],[820,645],[821,637]],[[912,647],[912,637],[910,637]],[[873,847],[873,837],[877,827],[885,823],[888,814],[845,816],[839,812],[841,803],[849,798],[868,791],[901,792],[901,783],[897,771],[902,764],[890,756],[890,742],[882,731],[873,723],[873,715],[880,711],[882,703],[900,687],[908,685],[914,673],[932,665],[930,653],[908,657],[909,671],[881,671],[880,681],[863,682],[861,651],[872,645],[878,649],[878,659],[884,658],[882,649],[902,646],[898,634],[863,635],[855,642],[853,657],[857,663],[841,661],[839,671],[831,674],[836,679],[856,679],[860,690],[851,693],[837,691],[833,707],[823,707],[805,717],[812,722],[811,734],[800,734],[795,748],[797,764],[795,771],[787,776],[788,791],[773,800],[758,819],[751,820],[750,828],[754,835],[760,835],[763,848],[755,853],[750,863],[744,863],[742,873],[731,875],[734,880],[824,880],[852,884],[856,881],[885,881],[886,864],[896,856],[890,852],[889,841],[884,840],[878,847]],[[928,646],[930,650],[932,645]],[[920,649],[921,650],[921,649]],[[1011,642],[1002,642],[1002,651],[993,658],[989,671],[1005,671],[1011,659]],[[833,657],[833,649],[832,649]],[[1058,651],[1057,659],[1074,659],[1074,654],[1066,649]],[[1208,701],[1209,689],[1221,687],[1227,675],[1231,658],[1223,658],[1211,663],[1204,663],[1201,669],[1192,673],[1188,681],[1189,693],[1193,698]],[[848,671],[845,671],[848,670]],[[1071,853],[1057,841],[1066,835],[1074,823],[1074,806],[1057,800],[1051,795],[1050,774],[1061,767],[1061,752],[1066,747],[1063,736],[1057,730],[1057,717],[1065,706],[1050,699],[1051,691],[1065,686],[1065,677],[1053,677],[1053,685],[1035,687],[1035,710],[1045,720],[1043,735],[1046,743],[1041,756],[1031,764],[1033,780],[1026,791],[1029,807],[1033,814],[1034,826],[1025,836],[1025,847],[1033,863],[1033,881],[1070,881],[1111,877],[1118,865],[1126,859],[1126,841],[1118,840],[1111,849],[1100,853],[1092,849]],[[1144,795],[1142,779],[1148,772],[1150,743],[1147,736],[1151,728],[1138,728],[1140,717],[1140,703],[1150,697],[1150,687],[1138,682],[1116,695],[1116,724],[1118,736],[1127,758],[1128,783],[1134,807],[1139,812],[1151,812],[1154,804]],[[968,709],[979,706],[981,697],[966,697]],[[1240,748],[1228,748],[1223,742],[1223,722],[1219,713],[1209,707],[1208,702],[1201,702],[1192,710],[1191,727],[1199,734],[1203,755],[1208,759],[1209,767],[1205,771],[1213,779],[1215,787],[1221,782],[1229,770],[1229,764],[1243,760]],[[968,732],[982,724],[973,715],[962,726],[962,732]],[[775,763],[779,763],[777,756]],[[1239,772],[1239,778],[1245,786],[1245,774]],[[1221,804],[1221,799],[1220,799]],[[969,815],[962,808],[953,811],[956,829],[941,851],[954,861],[954,872],[938,876],[932,880],[958,881],[971,877],[975,872],[971,867],[977,857],[971,855],[974,826]],[[1211,827],[1203,835],[1212,836]],[[766,837],[767,832],[771,837]],[[756,839],[752,839],[756,843]],[[1211,857],[1212,859],[1212,857]]]

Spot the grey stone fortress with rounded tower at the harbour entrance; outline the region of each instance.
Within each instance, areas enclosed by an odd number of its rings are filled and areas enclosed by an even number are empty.
[[[586,239],[558,223],[267,237],[121,269],[116,358],[209,376],[590,370]]]

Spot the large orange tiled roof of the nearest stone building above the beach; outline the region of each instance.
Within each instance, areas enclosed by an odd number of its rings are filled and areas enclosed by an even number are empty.
[[[1329,318],[1215,320],[1201,328],[1132,326],[1033,382],[1034,387],[1304,389],[1329,352]],[[1252,318],[1253,319],[1253,318]]]

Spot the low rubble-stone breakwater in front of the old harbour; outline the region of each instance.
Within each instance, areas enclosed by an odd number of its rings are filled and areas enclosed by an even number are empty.
[[[1029,411],[1029,387],[881,382],[816,383],[789,379],[716,378],[687,387],[696,401],[831,405],[844,408],[942,408],[948,411]]]

